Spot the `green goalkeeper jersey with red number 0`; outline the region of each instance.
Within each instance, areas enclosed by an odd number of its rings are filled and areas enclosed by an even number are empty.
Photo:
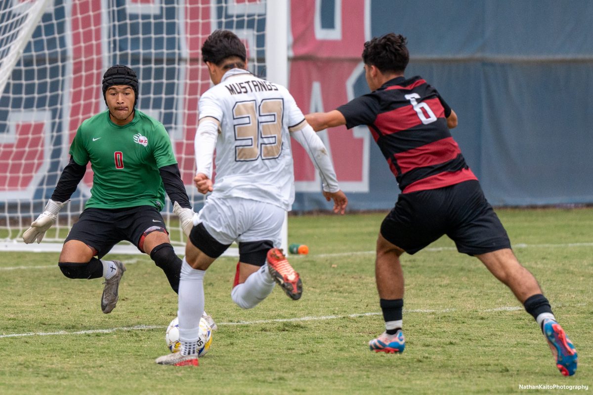
[[[93,188],[85,208],[152,205],[161,210],[165,188],[158,171],[177,163],[160,122],[136,110],[134,119],[117,126],[109,111],[82,122],[70,146],[79,165],[91,162]]]

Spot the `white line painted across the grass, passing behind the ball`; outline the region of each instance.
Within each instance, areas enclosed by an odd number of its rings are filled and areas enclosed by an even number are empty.
[[[586,303],[571,304],[571,306],[585,306]],[[555,304],[554,307],[562,307],[563,304]],[[518,306],[502,306],[496,307],[495,309],[478,310],[478,313],[491,313],[495,311],[517,311],[523,310],[522,307]],[[457,311],[457,309],[442,309],[442,310],[430,310],[430,309],[404,309],[404,313],[451,313]],[[235,326],[235,325],[256,325],[256,324],[267,324],[275,322],[306,322],[306,321],[320,321],[320,320],[334,320],[340,318],[357,318],[367,316],[379,316],[382,313],[359,313],[359,314],[348,314],[343,316],[308,316],[308,317],[297,317],[297,318],[285,318],[285,319],[273,319],[273,320],[254,320],[254,321],[239,321],[239,322],[217,322],[217,325],[222,326]],[[136,325],[136,326],[123,326],[109,329],[88,329],[88,330],[76,330],[75,332],[68,332],[66,330],[59,330],[58,332],[27,332],[27,333],[8,333],[6,335],[0,335],[0,339],[3,338],[23,338],[27,336],[56,336],[56,335],[88,335],[90,333],[111,333],[117,330],[147,330],[147,329],[165,329],[166,325]]]

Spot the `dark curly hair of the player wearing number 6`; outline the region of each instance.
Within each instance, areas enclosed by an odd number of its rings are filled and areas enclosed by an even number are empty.
[[[406,37],[388,33],[366,41],[362,51],[365,65],[375,66],[380,72],[403,72],[410,60]]]

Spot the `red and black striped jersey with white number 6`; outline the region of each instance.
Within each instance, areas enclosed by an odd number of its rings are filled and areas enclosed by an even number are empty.
[[[447,127],[451,108],[420,76],[391,79],[337,110],[348,129],[368,126],[402,193],[477,179]]]

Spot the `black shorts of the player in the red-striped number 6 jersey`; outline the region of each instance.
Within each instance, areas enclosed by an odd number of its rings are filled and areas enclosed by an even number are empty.
[[[381,224],[381,235],[413,254],[449,236],[468,255],[511,248],[511,241],[477,181],[400,194]]]

